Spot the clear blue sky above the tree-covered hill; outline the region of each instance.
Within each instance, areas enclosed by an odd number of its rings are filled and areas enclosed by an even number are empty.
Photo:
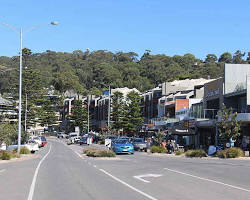
[[[249,0],[0,0],[0,22],[28,28],[33,52],[87,48],[204,59],[250,51]],[[19,35],[0,25],[0,56],[18,55]]]

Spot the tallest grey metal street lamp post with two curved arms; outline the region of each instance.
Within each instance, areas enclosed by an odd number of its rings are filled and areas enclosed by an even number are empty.
[[[22,121],[22,49],[23,49],[23,29],[20,28],[19,31],[17,28],[0,22],[0,24],[7,26],[11,30],[14,30],[15,32],[19,32],[20,34],[20,63],[19,63],[19,105],[18,105],[18,139],[17,139],[17,152],[20,153],[20,147],[21,147],[21,121]],[[50,25],[58,25],[58,22],[51,22]],[[30,30],[35,29],[39,26],[32,26]]]

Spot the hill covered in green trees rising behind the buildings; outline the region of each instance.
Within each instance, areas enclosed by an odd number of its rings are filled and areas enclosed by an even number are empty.
[[[249,62],[249,56],[245,60],[244,56],[240,51],[233,56],[226,52],[219,59],[214,54],[208,54],[203,61],[192,54],[171,57],[164,54],[152,55],[149,50],[139,58],[135,52],[77,50],[62,53],[48,50],[33,54],[30,49],[25,48],[23,66],[24,77],[39,80],[35,87],[48,88],[53,85],[60,93],[74,89],[82,94],[94,94],[105,88],[103,84],[110,84],[112,88],[127,86],[145,91],[174,79],[208,76],[217,78],[223,75],[225,62]],[[18,65],[18,56],[0,57],[0,92],[9,92],[10,89],[13,91],[18,82]]]

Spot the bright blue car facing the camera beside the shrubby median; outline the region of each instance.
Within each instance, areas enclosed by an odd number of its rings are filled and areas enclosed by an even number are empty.
[[[116,153],[134,154],[134,146],[126,139],[116,139],[112,142],[112,150]]]

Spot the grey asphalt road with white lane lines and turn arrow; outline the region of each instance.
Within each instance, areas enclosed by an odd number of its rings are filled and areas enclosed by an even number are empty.
[[[250,161],[81,152],[54,139],[36,159],[0,164],[0,199],[250,199]]]

